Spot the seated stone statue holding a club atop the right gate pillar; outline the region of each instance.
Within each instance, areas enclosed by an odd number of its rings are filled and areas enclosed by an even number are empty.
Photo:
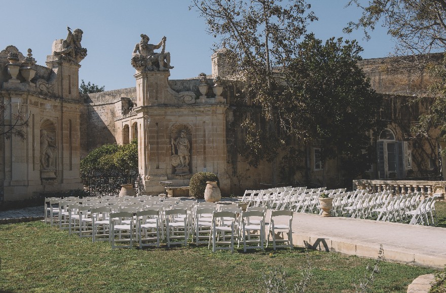
[[[169,70],[173,66],[170,66],[170,53],[165,52],[166,49],[166,37],[157,45],[148,44],[150,39],[146,34],[141,34],[141,41],[135,45],[135,49],[132,54],[132,66],[137,70]],[[154,50],[161,48],[160,53],[155,53]]]

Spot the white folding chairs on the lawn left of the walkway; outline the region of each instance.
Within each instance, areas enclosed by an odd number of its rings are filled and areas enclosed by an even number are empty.
[[[66,203],[59,202],[61,207],[63,207]],[[112,247],[132,247],[133,245],[133,235],[137,235],[136,239],[139,239],[139,246],[145,246],[145,245],[157,245],[159,246],[160,241],[160,233],[161,237],[164,238],[164,227],[166,227],[166,234],[167,234],[167,244],[170,247],[172,243],[172,240],[182,240],[180,242],[175,242],[175,244],[187,244],[187,240],[189,238],[190,228],[192,226],[191,223],[191,214],[193,211],[193,207],[195,206],[194,202],[189,201],[190,204],[188,206],[177,204],[177,205],[170,205],[169,203],[160,203],[160,206],[152,206],[152,207],[146,207],[143,205],[137,205],[137,204],[131,204],[127,206],[114,204],[114,205],[107,205],[107,204],[96,204],[96,205],[87,205],[87,204],[80,204],[80,203],[71,203],[68,204],[68,226],[70,233],[79,233],[80,237],[83,236],[91,236],[93,242],[96,240],[108,240],[112,243]],[[206,209],[207,207],[207,209]],[[233,212],[234,214],[240,214],[241,210],[240,208],[237,208],[238,210],[230,211],[231,207],[222,206],[221,210],[225,212]],[[242,216],[240,217],[240,221],[236,224],[235,227],[239,231],[237,235],[238,239],[238,245],[240,245],[240,239],[243,239],[244,244],[244,250],[246,251],[247,248],[263,248],[264,246],[264,239],[265,239],[265,214],[266,209],[259,209],[259,208],[250,208],[250,213],[242,213]],[[254,210],[253,210],[254,209]],[[164,211],[164,212],[163,212]],[[198,211],[198,212],[197,212]],[[206,217],[201,217],[199,221],[197,215],[204,216],[205,214],[200,211],[205,211],[207,213],[211,213],[211,218],[209,221],[209,216],[207,217],[207,223],[213,223],[212,227],[214,227],[214,231],[224,231],[226,228],[222,228],[223,226],[228,225],[222,225],[222,223],[219,221],[218,225],[215,226],[215,221],[212,219],[215,217],[213,215],[213,212],[215,211],[215,204],[211,203],[200,203],[199,206],[195,209],[195,217],[196,217],[196,226],[197,227],[197,244],[200,243],[199,237],[198,237],[198,229],[203,226],[203,221],[206,219]],[[244,222],[243,218],[244,216],[247,218],[252,218],[256,215],[256,213],[261,213],[263,215],[263,219],[257,223],[251,222],[247,223]],[[61,214],[61,213],[60,213]],[[135,216],[136,215],[136,216]],[[164,217],[163,217],[164,215]],[[274,213],[272,214],[272,216]],[[279,216],[282,214],[277,214],[276,216]],[[150,218],[148,216],[151,216]],[[290,214],[292,218],[292,212]],[[60,221],[62,223],[62,221]],[[201,223],[201,224],[199,224]],[[201,225],[201,226],[200,226]],[[271,227],[272,226],[272,227]],[[275,229],[284,229],[282,227],[284,225],[277,225],[274,226],[274,222],[270,221],[270,229],[273,237],[273,245],[274,249],[276,247],[280,247],[281,245],[276,245],[276,239],[275,239]],[[100,228],[102,228],[102,233],[100,232]],[[255,228],[255,229],[254,229]],[[292,247],[292,237],[291,237],[291,221],[288,225],[288,244],[290,247]],[[150,230],[150,232],[148,231]],[[200,229],[202,230],[202,229]],[[260,233],[257,235],[256,240],[252,240],[252,234],[251,231],[256,230],[260,231]],[[116,239],[118,236],[115,235],[116,232],[118,232],[119,239]],[[126,233],[123,233],[126,232]],[[203,232],[203,231],[202,231]],[[209,232],[209,231],[208,231]],[[247,233],[246,233],[247,232]],[[210,233],[210,232],[209,232]],[[178,235],[179,234],[179,235]],[[211,233],[211,235],[213,235]],[[127,237],[125,237],[127,236]],[[155,237],[156,236],[156,237]],[[233,235],[234,236],[234,235]],[[123,238],[124,237],[124,238]],[[209,236],[207,236],[209,238]],[[234,237],[232,237],[234,239]],[[148,243],[144,244],[143,242],[155,240],[155,243]],[[283,241],[283,240],[277,240],[277,242]],[[120,244],[122,242],[127,242],[127,245],[117,245],[116,243]],[[249,246],[250,243],[257,243],[257,245]],[[215,244],[218,243],[218,241],[215,241],[215,235],[212,238],[213,243],[213,250],[215,251],[216,246]],[[268,242],[267,242],[268,243]],[[221,242],[220,242],[221,244]],[[210,245],[210,238],[209,238],[209,245]],[[234,245],[233,242],[229,246],[233,250]]]

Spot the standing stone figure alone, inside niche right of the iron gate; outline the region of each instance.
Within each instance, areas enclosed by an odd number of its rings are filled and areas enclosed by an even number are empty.
[[[177,139],[172,137],[171,163],[176,169],[176,174],[189,174],[189,162],[191,160],[191,144],[186,137],[186,130],[181,130]],[[176,147],[176,154],[175,154]]]

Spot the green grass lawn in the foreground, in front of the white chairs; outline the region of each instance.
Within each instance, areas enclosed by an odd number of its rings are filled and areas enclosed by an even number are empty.
[[[218,251],[207,246],[115,249],[38,222],[0,225],[2,292],[256,292],[262,274],[282,265],[288,282],[302,277],[302,248]],[[385,251],[384,251],[385,254]],[[378,255],[377,255],[378,256]],[[374,260],[310,251],[308,292],[354,292]],[[382,262],[373,292],[405,292],[435,270]],[[290,286],[292,287],[292,285]]]

